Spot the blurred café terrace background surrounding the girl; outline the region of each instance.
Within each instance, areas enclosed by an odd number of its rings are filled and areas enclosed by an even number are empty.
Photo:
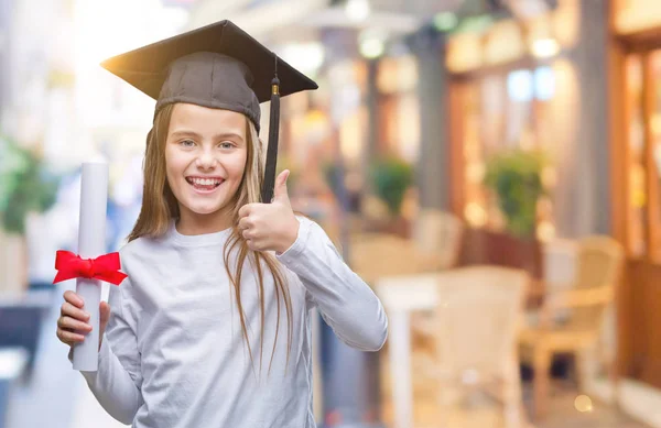
[[[389,316],[353,409],[315,341],[319,426],[661,427],[659,0],[0,0],[0,427],[121,426],[52,284],[83,162],[108,251],[140,209],[154,101],[99,62],[221,19],[319,84],[278,169]]]

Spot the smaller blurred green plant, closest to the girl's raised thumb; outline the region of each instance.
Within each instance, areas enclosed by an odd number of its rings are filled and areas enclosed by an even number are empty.
[[[376,161],[370,167],[375,194],[386,202],[391,215],[398,216],[407,189],[413,183],[413,168],[397,157]]]

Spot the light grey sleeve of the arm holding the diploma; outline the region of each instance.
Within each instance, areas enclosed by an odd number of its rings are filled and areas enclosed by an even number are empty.
[[[126,425],[133,421],[143,404],[137,323],[127,298],[130,288],[129,278],[119,287],[110,285],[110,319],[99,350],[98,370],[80,372],[101,407]]]

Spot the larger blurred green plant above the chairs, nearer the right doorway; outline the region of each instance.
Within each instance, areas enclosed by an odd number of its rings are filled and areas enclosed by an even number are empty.
[[[545,194],[541,177],[545,163],[541,152],[520,149],[499,153],[487,162],[485,185],[496,194],[507,229],[517,237],[534,234],[537,204]]]

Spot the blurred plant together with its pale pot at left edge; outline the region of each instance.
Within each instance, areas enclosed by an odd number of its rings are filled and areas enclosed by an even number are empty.
[[[25,220],[30,212],[53,206],[58,185],[59,178],[41,156],[0,135],[0,224],[6,251],[0,261],[8,263],[0,286],[22,289],[26,285]]]

